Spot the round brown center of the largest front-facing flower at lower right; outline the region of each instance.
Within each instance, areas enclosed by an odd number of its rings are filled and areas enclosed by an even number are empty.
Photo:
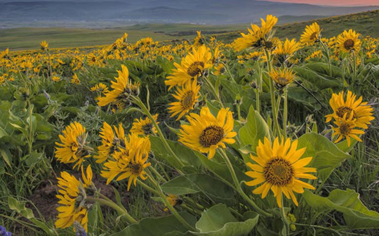
[[[274,157],[266,163],[263,175],[272,185],[286,186],[294,175],[292,164],[282,157]]]

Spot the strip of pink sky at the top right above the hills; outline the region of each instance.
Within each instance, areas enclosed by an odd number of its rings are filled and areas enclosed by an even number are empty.
[[[283,3],[306,3],[312,5],[329,6],[379,6],[379,0],[269,0],[272,2]]]

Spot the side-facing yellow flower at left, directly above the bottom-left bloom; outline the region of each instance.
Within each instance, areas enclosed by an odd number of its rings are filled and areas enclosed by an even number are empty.
[[[59,147],[56,147],[55,157],[58,161],[63,163],[75,163],[79,168],[84,158],[90,157],[88,150],[86,150],[86,128],[83,127],[80,123],[74,122],[66,127],[62,131],[63,135],[59,135],[60,143],[55,142]]]

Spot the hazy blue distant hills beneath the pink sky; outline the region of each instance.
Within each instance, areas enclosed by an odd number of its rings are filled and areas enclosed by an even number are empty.
[[[0,1],[0,28],[106,28],[136,23],[235,24],[259,21],[266,14],[294,22],[379,9],[323,7],[254,0]],[[290,16],[290,17],[289,17]]]

